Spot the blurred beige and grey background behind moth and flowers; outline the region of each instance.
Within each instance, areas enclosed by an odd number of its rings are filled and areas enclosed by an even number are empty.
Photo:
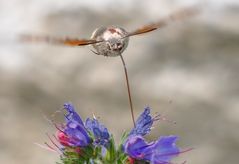
[[[100,26],[128,31],[190,5],[203,12],[130,38],[124,57],[135,114],[145,106],[176,121],[155,124],[148,140],[180,136],[195,148],[175,162],[239,162],[239,2],[237,0],[1,0],[0,163],[53,164],[36,145],[55,128],[44,118],[72,102],[83,119],[99,117],[117,141],[132,127],[119,57],[91,47],[26,44],[20,34],[89,38]],[[60,115],[56,117],[62,118]]]

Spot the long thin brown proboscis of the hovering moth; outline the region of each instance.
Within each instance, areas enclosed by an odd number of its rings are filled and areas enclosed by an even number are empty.
[[[127,91],[128,91],[128,97],[129,97],[130,111],[131,111],[133,124],[134,124],[134,127],[135,127],[134,110],[133,110],[133,103],[132,103],[132,98],[131,98],[131,93],[130,93],[130,86],[129,86],[129,78],[128,78],[128,73],[127,73],[127,68],[126,68],[126,64],[125,64],[125,61],[124,61],[124,58],[123,58],[122,54],[120,54],[120,58],[121,58],[123,66],[124,66],[124,73],[125,73],[125,79],[126,79],[126,85],[127,85]]]

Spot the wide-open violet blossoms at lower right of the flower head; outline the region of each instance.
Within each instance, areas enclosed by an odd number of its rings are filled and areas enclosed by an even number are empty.
[[[152,164],[170,164],[173,157],[180,154],[175,142],[177,136],[163,136],[147,143],[140,135],[130,136],[124,144],[124,152],[131,158],[146,160]]]

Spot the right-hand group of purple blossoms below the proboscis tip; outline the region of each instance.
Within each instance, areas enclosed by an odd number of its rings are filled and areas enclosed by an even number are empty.
[[[162,136],[158,140],[147,143],[143,138],[148,134],[154,121],[160,115],[152,117],[150,108],[144,109],[136,121],[136,126],[130,131],[123,144],[123,151],[134,160],[148,161],[152,164],[170,164],[171,159],[182,153],[176,146],[177,136]]]

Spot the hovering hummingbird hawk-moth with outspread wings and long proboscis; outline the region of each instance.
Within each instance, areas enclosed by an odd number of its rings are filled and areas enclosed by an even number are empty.
[[[160,19],[159,21],[151,24],[142,26],[134,31],[128,32],[122,27],[118,26],[103,26],[97,28],[90,39],[72,39],[72,38],[54,38],[48,36],[34,36],[34,35],[22,35],[21,40],[27,42],[46,42],[50,44],[62,44],[67,46],[86,46],[92,45],[94,52],[97,55],[103,55],[107,57],[120,56],[125,72],[127,91],[129,104],[131,109],[131,116],[135,126],[134,113],[133,113],[133,103],[131,99],[130,86],[128,80],[128,73],[125,61],[123,59],[122,53],[128,46],[129,38],[132,36],[148,33],[168,25],[170,22],[185,19],[187,17],[193,16],[199,12],[199,8],[190,7],[179,10],[170,14],[168,17]]]

